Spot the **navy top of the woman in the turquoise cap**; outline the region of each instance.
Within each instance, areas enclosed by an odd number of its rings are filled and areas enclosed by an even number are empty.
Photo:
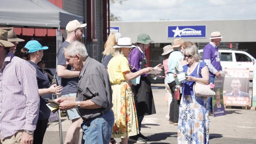
[[[36,65],[32,61],[28,61],[36,70],[37,72],[37,85],[38,89],[47,89],[50,87],[50,81],[48,79],[47,74],[43,72],[43,70]],[[50,117],[50,109],[46,106],[47,102],[43,98],[50,98],[52,99],[52,94],[45,94],[40,96],[40,108],[39,108],[39,117],[38,120],[45,120]]]

